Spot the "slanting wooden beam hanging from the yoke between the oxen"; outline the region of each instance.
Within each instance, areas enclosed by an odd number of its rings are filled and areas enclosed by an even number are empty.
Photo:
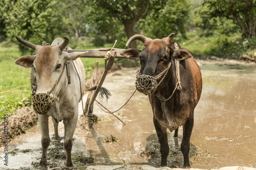
[[[111,48],[107,48],[107,49],[109,49],[109,50],[111,50]],[[97,52],[98,52],[98,50],[97,50]],[[104,51],[104,56],[105,56],[105,54],[106,54],[106,52]],[[99,56],[99,54],[97,54],[97,56]],[[88,105],[88,107],[86,107],[84,110],[87,110],[87,115],[89,114],[89,112],[90,112],[90,110],[91,110],[91,107],[92,107],[92,105],[93,105],[93,103],[94,103],[94,101],[95,101],[95,99],[96,99],[96,97],[97,97],[97,95],[98,95],[98,93],[99,93],[99,90],[100,90],[100,88],[101,88],[101,86],[102,86],[102,84],[103,84],[103,82],[104,82],[104,80],[105,80],[105,78],[106,78],[106,75],[108,74],[108,71],[111,69],[111,67],[113,66],[113,64],[114,64],[114,61],[115,61],[115,57],[117,56],[117,52],[116,52],[116,50],[114,50],[112,53],[111,53],[111,55],[110,55],[110,58],[109,58],[109,61],[108,61],[108,63],[106,64],[106,67],[105,67],[105,70],[104,70],[104,72],[103,72],[103,74],[102,74],[102,77],[101,77],[101,79],[100,79],[100,81],[99,81],[99,84],[98,84],[98,86],[97,86],[97,88],[96,88],[96,90],[93,92],[93,94],[92,94],[92,97],[91,97],[91,100],[90,100],[90,103],[89,103],[89,105]],[[82,56],[83,57],[83,56]],[[92,57],[92,56],[91,56]]]

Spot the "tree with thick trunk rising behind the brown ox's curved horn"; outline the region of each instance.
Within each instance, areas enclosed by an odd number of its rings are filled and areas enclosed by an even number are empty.
[[[101,26],[101,29],[119,21],[124,26],[127,38],[130,38],[134,35],[135,23],[145,17],[149,9],[159,9],[165,2],[165,0],[95,0],[92,1],[92,6],[95,9],[94,16],[96,14],[95,17],[98,19],[94,21]],[[103,24],[101,25],[97,20],[101,20]],[[130,47],[137,48],[136,41],[133,41]]]

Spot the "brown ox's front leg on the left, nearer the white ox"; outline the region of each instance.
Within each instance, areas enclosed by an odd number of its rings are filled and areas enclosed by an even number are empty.
[[[167,139],[166,128],[161,127],[158,121],[154,118],[154,125],[157,132],[157,137],[160,142],[160,153],[161,153],[161,166],[167,165],[167,156],[169,154],[169,144]]]

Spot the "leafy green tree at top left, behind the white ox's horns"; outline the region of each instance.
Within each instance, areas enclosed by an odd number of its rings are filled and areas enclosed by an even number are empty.
[[[6,36],[15,35],[35,44],[41,41],[52,41],[56,35],[61,35],[61,12],[56,10],[57,0],[44,1],[13,1],[0,2],[0,12],[4,20],[4,32]],[[16,41],[16,40],[15,40]],[[24,51],[24,48],[20,45]]]

